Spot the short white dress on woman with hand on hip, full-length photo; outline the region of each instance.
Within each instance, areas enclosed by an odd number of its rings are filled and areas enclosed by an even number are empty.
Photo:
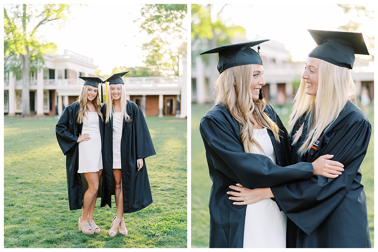
[[[87,119],[88,117],[88,119]],[[91,139],[79,142],[78,173],[102,170],[100,123],[97,112],[87,112],[84,117],[81,135],[88,133]]]

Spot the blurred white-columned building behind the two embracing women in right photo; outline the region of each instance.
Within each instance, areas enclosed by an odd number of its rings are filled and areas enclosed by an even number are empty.
[[[257,35],[254,40],[263,40],[265,37]],[[247,42],[246,39],[231,40],[231,43]],[[194,43],[195,46],[195,43]],[[304,70],[304,62],[292,62],[291,54],[283,43],[270,40],[260,45],[260,53],[264,64],[263,86],[265,99],[273,104],[290,103],[296,89],[299,87],[301,75]],[[198,48],[199,49],[199,48]],[[210,48],[201,48],[205,51]],[[257,46],[253,49],[257,51]],[[199,51],[200,51],[199,50]],[[205,54],[192,55],[192,102],[214,102],[214,81],[219,75],[217,71],[218,55],[208,56]],[[214,57],[216,56],[216,57]],[[204,58],[206,57],[206,60]],[[361,92],[366,88],[369,99],[374,99],[374,64],[356,59],[352,71],[353,80],[357,87],[357,101],[360,100]]]

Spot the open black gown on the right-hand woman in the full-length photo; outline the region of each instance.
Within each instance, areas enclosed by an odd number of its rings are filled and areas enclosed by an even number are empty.
[[[106,114],[106,104],[101,108]],[[150,131],[143,112],[134,102],[127,100],[126,112],[130,119],[123,119],[121,138],[121,170],[123,212],[132,213],[152,203],[150,182],[147,175],[145,158],[155,155]],[[101,207],[112,207],[113,181],[113,117],[105,123],[104,173]],[[143,158],[143,168],[136,167],[136,160]]]

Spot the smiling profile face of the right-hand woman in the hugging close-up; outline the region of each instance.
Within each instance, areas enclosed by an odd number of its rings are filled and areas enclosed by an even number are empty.
[[[302,74],[302,79],[306,81],[306,94],[316,95],[318,91],[318,72],[319,72],[318,58],[307,57],[305,71]]]

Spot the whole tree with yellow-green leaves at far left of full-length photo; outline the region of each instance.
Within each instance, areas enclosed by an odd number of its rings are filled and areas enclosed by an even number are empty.
[[[66,4],[4,6],[4,69],[22,69],[22,116],[30,116],[31,66],[41,67],[43,55],[53,54],[56,50],[54,43],[43,40],[38,28],[53,21],[59,26],[64,25],[69,12],[70,5]]]

